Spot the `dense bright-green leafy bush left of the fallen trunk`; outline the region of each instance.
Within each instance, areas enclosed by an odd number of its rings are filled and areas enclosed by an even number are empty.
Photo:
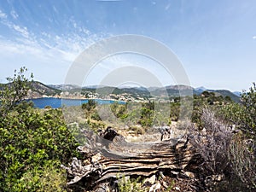
[[[0,189],[14,189],[26,172],[49,160],[67,163],[78,144],[61,118],[60,109],[26,108],[0,120]]]

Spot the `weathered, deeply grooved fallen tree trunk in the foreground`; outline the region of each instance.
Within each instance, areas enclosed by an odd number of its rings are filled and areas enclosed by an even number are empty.
[[[73,177],[67,183],[69,185],[84,180],[90,187],[102,186],[102,183],[120,177],[149,177],[166,171],[195,177],[188,172],[195,171],[201,163],[201,157],[190,145],[189,137],[160,143],[127,143],[111,128],[102,136],[93,132],[84,132],[84,136],[88,142],[79,147],[79,152],[87,160],[73,158],[69,167],[62,166]]]

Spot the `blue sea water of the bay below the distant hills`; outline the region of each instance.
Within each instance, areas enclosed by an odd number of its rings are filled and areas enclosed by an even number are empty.
[[[98,104],[111,104],[115,101],[112,100],[101,100],[94,99]],[[87,103],[88,99],[61,99],[54,97],[47,98],[39,98],[39,99],[31,99],[28,101],[32,101],[34,103],[35,108],[45,108],[46,106],[50,106],[51,108],[61,108],[62,106],[80,106],[83,103]],[[119,101],[119,104],[125,104],[125,102]]]

